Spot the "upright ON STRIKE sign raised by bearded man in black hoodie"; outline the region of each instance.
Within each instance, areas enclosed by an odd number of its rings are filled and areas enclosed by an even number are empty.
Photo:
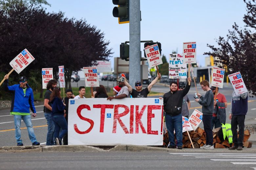
[[[186,64],[197,63],[197,46],[196,42],[183,42],[183,61]]]

